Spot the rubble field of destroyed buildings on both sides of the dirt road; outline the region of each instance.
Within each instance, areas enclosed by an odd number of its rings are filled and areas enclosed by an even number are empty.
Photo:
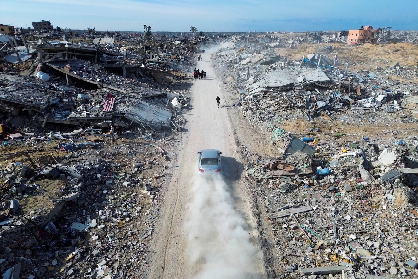
[[[150,278],[170,175],[189,152],[191,72],[214,41],[219,51],[202,62],[224,87],[245,164],[232,171],[251,206],[239,202],[256,220],[268,277],[418,277],[413,33],[350,47],[300,34],[63,35],[0,49],[4,279]]]

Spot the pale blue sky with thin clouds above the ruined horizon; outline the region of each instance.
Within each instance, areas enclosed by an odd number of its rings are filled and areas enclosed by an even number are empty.
[[[19,0],[0,5],[0,23],[97,30],[340,31],[360,26],[418,29],[416,0]]]

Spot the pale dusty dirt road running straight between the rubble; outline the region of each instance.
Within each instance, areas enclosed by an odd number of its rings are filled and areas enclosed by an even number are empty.
[[[260,236],[251,201],[240,183],[243,165],[235,151],[234,131],[225,98],[215,76],[210,53],[199,70],[206,79],[193,81],[191,108],[183,144],[177,152],[173,178],[165,193],[154,235],[155,255],[150,278],[266,278]],[[221,98],[217,108],[215,98]],[[201,178],[196,152],[222,152],[223,176]]]

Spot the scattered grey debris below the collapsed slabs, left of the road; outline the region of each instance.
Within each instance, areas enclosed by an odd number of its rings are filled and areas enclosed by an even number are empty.
[[[139,270],[154,253],[147,237],[165,183],[166,152],[143,142],[101,153],[48,150],[61,163],[31,159],[43,151],[2,154],[31,163],[2,166],[3,278],[112,278]]]

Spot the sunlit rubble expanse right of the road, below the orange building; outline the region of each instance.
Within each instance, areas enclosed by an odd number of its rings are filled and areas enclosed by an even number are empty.
[[[240,139],[270,275],[417,277],[418,92],[388,79],[415,67],[354,72],[331,54],[224,46],[212,60],[231,92],[225,106],[277,148],[263,155]]]

